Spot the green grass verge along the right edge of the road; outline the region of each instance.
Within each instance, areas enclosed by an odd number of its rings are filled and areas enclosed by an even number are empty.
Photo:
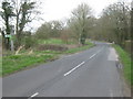
[[[130,54],[122,50],[119,45],[113,45],[116,50],[121,63],[124,65],[123,73],[129,82],[133,86],[133,77],[131,77],[131,57]],[[133,70],[133,69],[132,69]]]

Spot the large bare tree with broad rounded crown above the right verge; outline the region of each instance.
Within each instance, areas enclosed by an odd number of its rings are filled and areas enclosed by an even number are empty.
[[[101,34],[105,33],[108,41],[115,41],[124,47],[124,42],[130,40],[130,9],[125,2],[110,4],[100,20],[104,30]]]

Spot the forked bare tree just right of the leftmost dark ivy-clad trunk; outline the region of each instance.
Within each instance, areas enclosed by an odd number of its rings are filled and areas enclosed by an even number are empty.
[[[18,0],[14,2],[14,9],[16,9],[16,33],[17,33],[17,47],[21,45],[21,38],[22,38],[22,32],[24,30],[25,24],[31,22],[33,18],[33,13],[38,14],[39,12],[35,11],[35,2],[31,0],[21,0],[18,2]]]

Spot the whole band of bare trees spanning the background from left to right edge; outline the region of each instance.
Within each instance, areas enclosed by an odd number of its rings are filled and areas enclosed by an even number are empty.
[[[10,50],[11,40],[6,37],[7,34],[11,34],[9,20],[14,19],[17,21],[16,34],[12,38],[14,50],[18,50],[21,45],[25,45],[27,48],[32,47],[37,45],[38,40],[57,37],[64,42],[73,40],[80,45],[84,45],[86,38],[106,41],[119,44],[131,52],[133,9],[130,8],[126,1],[110,4],[102,11],[100,18],[93,15],[90,6],[81,3],[72,11],[68,20],[45,22],[34,33],[25,32],[24,28],[28,22],[32,22],[30,16],[34,13],[37,2],[24,0],[19,8],[14,8],[13,2],[12,0],[2,1],[3,12],[1,18],[6,24],[1,33],[7,50]],[[16,13],[13,12],[14,9],[17,9]]]

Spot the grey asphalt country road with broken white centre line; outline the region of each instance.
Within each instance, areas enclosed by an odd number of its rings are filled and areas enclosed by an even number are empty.
[[[3,97],[123,97],[114,50],[105,43],[2,79]]]

